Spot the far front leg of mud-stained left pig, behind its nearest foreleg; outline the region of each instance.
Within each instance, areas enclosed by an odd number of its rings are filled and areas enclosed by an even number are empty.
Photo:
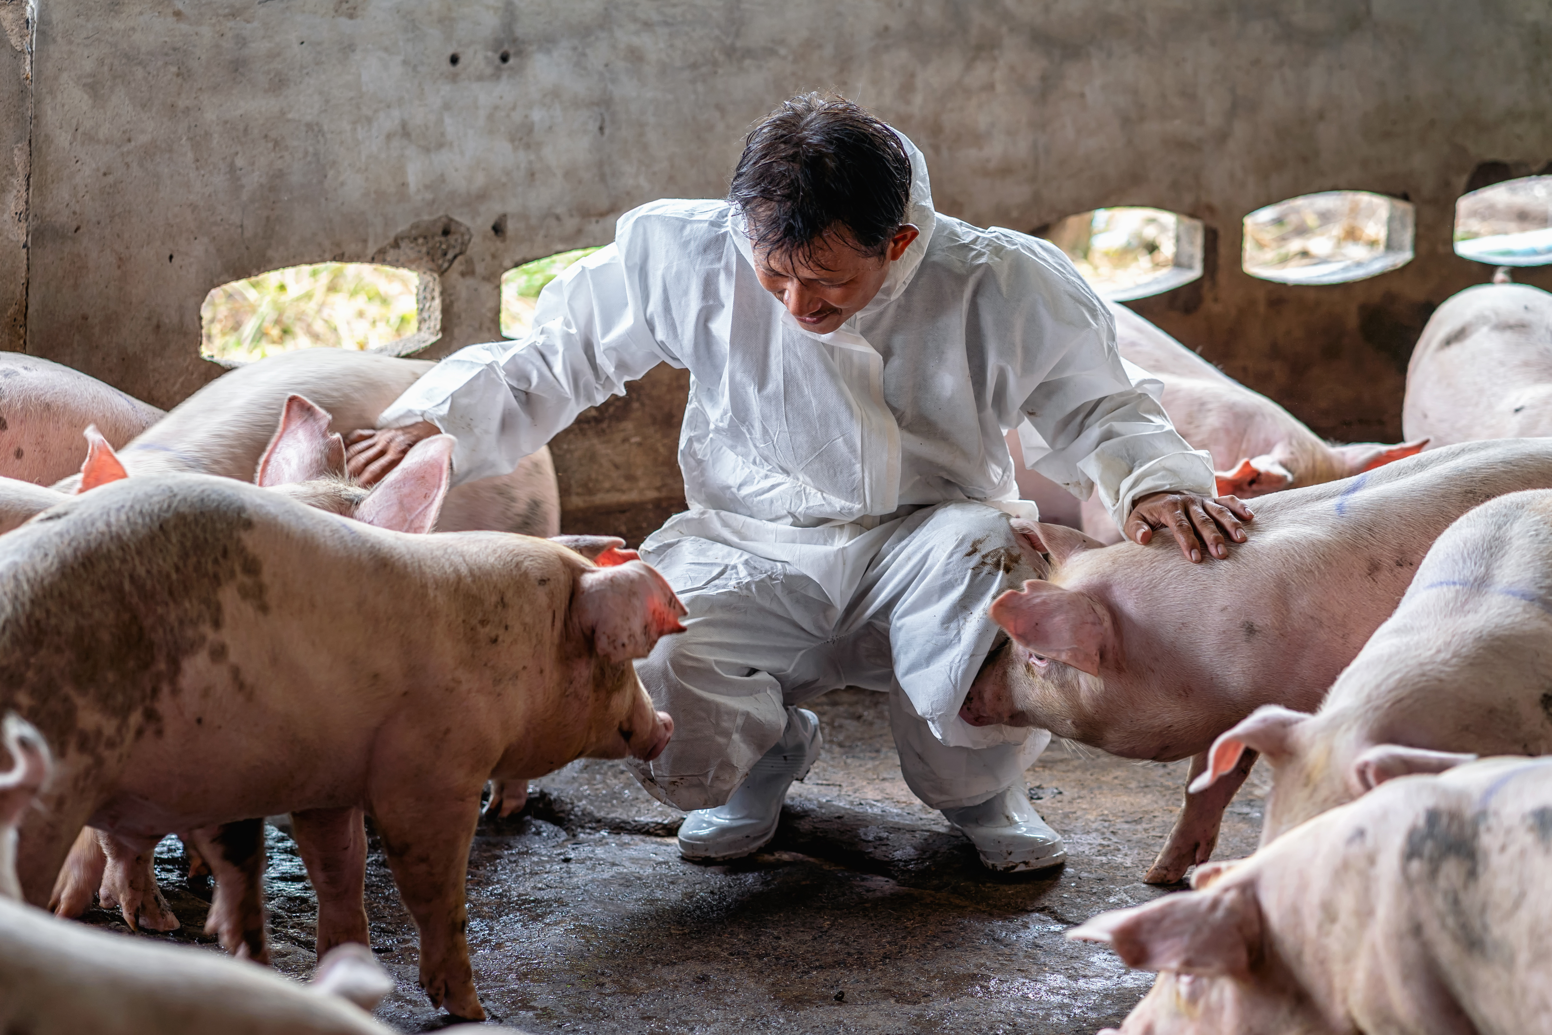
[[[371,945],[366,931],[366,827],[360,808],[292,813],[292,836],[318,892],[318,959],[345,942]]]

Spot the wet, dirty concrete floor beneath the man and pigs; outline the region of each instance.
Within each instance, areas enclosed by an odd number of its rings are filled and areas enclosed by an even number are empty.
[[[968,841],[900,781],[882,698],[815,704],[826,754],[793,787],[768,852],[731,866],[678,858],[680,813],[622,767],[577,762],[534,782],[525,816],[481,824],[469,867],[469,942],[492,1019],[529,1032],[1094,1032],[1147,992],[1103,947],[1062,933],[1161,889],[1142,872],[1173,819],[1184,763],[1152,765],[1052,745],[1029,771],[1069,861],[986,872]],[[1254,850],[1257,773],[1234,802],[1220,858]],[[290,839],[270,830],[275,964],[314,965],[315,900]],[[208,945],[208,886],[163,843],[158,877]],[[416,936],[372,852],[368,912],[399,987],[379,1016],[442,1027],[416,988]],[[123,926],[95,909],[88,920]],[[219,950],[217,950],[219,951]]]

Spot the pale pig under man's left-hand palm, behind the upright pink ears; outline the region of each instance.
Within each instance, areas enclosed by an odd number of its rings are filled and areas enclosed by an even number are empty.
[[[205,385],[120,450],[130,475],[178,472],[251,481],[289,396],[332,414],[331,431],[369,428],[435,363],[379,352],[301,349],[247,363]],[[56,486],[73,492],[76,478]],[[560,532],[560,490],[549,450],[526,456],[511,475],[453,487],[439,532],[489,529],[525,535]]]

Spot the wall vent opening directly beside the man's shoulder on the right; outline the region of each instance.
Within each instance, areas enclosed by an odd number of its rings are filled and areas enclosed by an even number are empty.
[[[1159,295],[1201,276],[1201,220],[1162,208],[1096,208],[1044,233],[1100,298]]]

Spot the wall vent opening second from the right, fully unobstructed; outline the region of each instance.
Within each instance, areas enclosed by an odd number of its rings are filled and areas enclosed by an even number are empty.
[[[1245,217],[1242,265],[1279,284],[1346,284],[1412,261],[1412,206],[1367,191],[1322,191]]]

